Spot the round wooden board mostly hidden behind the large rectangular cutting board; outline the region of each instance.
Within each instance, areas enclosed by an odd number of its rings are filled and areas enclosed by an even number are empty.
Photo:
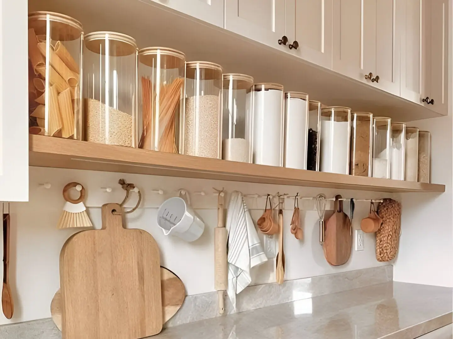
[[[160,267],[160,289],[162,293],[162,316],[163,323],[170,320],[173,315],[183,305],[186,297],[186,290],[181,279],[176,274],[167,268]],[[58,291],[53,296],[50,304],[50,314],[52,320],[61,331],[61,291]]]

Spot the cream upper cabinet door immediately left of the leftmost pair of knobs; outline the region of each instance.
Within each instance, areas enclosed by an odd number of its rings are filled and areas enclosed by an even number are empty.
[[[225,28],[288,50],[288,46],[278,44],[285,35],[285,0],[225,0]]]

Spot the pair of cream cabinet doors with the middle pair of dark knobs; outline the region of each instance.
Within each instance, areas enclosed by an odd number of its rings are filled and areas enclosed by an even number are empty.
[[[400,95],[396,0],[333,4],[333,70]]]

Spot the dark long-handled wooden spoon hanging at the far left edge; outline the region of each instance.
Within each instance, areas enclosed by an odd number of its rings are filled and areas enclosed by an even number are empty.
[[[14,313],[14,302],[10,288],[10,211],[3,212],[3,288],[1,292],[1,306],[3,314],[11,319]]]

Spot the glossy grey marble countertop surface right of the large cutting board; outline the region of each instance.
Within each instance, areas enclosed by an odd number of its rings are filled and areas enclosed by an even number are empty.
[[[452,289],[386,282],[164,329],[159,339],[408,339],[452,323]]]

